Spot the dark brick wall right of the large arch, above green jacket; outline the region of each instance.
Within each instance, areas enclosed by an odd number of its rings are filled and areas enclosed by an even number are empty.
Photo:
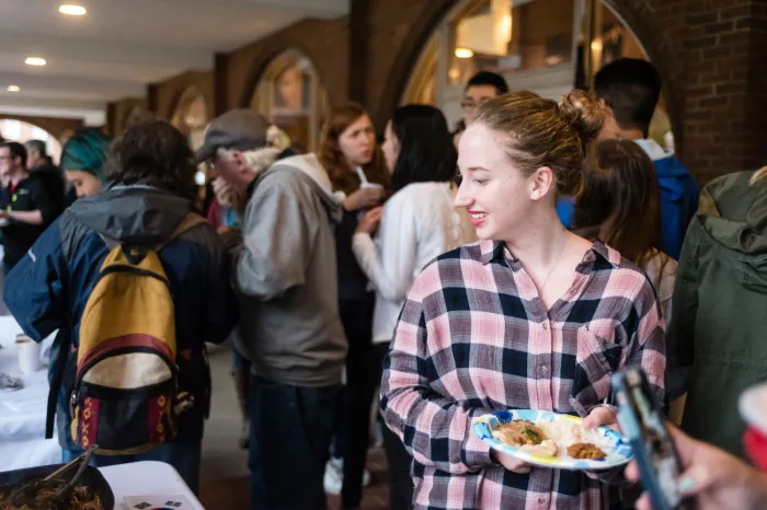
[[[685,163],[701,182],[766,163],[764,2],[691,1],[685,11]]]

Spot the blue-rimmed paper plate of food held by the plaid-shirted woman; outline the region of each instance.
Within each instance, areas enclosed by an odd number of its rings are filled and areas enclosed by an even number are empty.
[[[629,441],[619,432],[608,427],[586,430],[577,416],[503,410],[474,418],[471,428],[494,450],[545,467],[609,470],[633,457]]]

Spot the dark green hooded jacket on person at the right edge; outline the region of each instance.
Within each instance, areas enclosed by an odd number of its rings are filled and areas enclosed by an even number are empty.
[[[682,428],[744,457],[737,398],[767,382],[767,179],[725,175],[700,195],[679,257],[668,349],[689,367]]]

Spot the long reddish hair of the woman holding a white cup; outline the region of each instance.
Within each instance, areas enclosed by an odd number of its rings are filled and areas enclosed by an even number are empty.
[[[348,163],[346,163],[346,159],[339,146],[339,138],[352,124],[365,115],[367,115],[367,112],[357,103],[346,103],[336,106],[328,114],[328,119],[320,137],[320,149],[317,151],[320,163],[328,172],[330,181],[333,183],[333,189],[343,192],[346,195],[356,192],[360,182],[355,170],[351,169]],[[364,165],[363,170],[369,182],[389,187],[391,176],[386,169],[378,143],[374,147],[373,160]]]

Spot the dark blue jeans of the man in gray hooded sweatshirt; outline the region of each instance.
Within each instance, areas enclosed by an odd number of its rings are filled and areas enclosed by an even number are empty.
[[[325,510],[324,476],[340,385],[301,387],[251,375],[253,510]]]

